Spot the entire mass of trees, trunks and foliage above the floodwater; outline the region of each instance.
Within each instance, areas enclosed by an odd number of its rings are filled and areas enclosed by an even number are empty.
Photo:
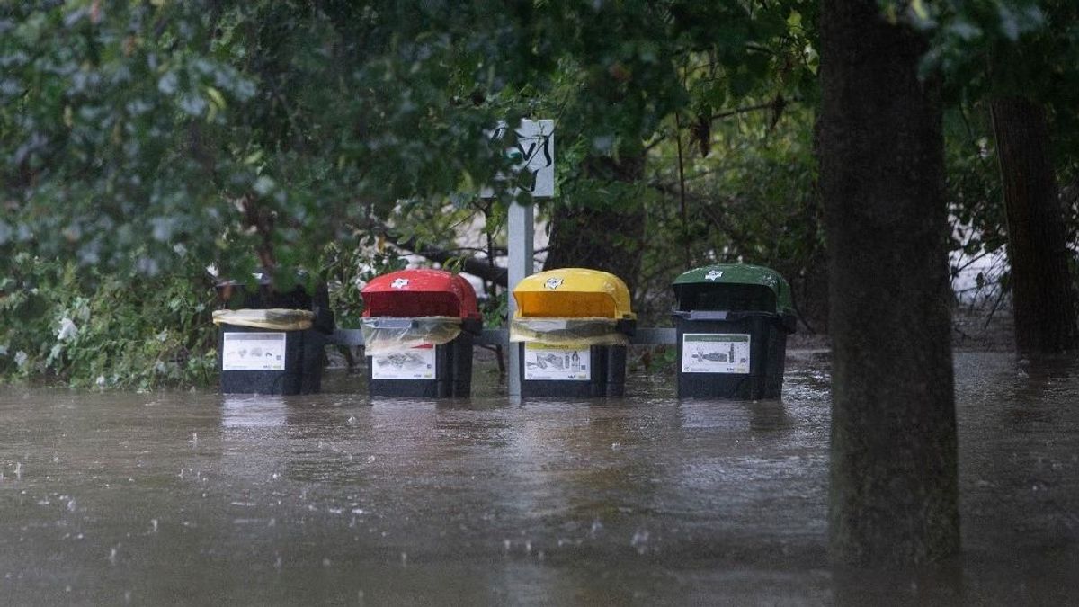
[[[0,375],[213,381],[214,279],[359,282],[419,254],[487,281],[498,120],[557,121],[547,268],[789,278],[833,343],[849,562],[958,550],[948,291],[1074,349],[1071,0],[12,1],[0,6]],[[481,186],[495,184],[493,199]],[[468,237],[462,243],[461,237]],[[952,252],[952,256],[947,256]],[[962,255],[957,255],[961,252]],[[948,261],[951,259],[951,262]],[[310,284],[309,284],[310,286]]]

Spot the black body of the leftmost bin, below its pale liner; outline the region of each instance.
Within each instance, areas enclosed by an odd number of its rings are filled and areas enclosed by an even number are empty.
[[[230,348],[250,340],[251,343],[284,341],[282,370],[224,370],[226,335]],[[220,325],[218,333],[218,370],[222,394],[313,394],[322,389],[323,355],[326,335],[316,329],[270,331],[231,324]],[[263,348],[260,348],[263,349]],[[274,351],[277,348],[273,348]]]

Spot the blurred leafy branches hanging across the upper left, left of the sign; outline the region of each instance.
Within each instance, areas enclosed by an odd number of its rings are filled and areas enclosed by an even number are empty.
[[[505,85],[486,9],[6,3],[0,254],[312,268],[400,199],[492,181],[496,117],[466,96]]]

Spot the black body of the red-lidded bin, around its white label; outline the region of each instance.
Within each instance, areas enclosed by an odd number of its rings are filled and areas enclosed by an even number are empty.
[[[374,379],[373,356],[367,356],[371,396],[463,399],[472,393],[473,334],[462,331],[448,343],[435,346],[433,379]]]

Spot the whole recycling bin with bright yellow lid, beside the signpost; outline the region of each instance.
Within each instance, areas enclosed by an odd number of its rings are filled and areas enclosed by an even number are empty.
[[[514,288],[509,340],[519,342],[521,396],[622,396],[637,325],[622,279],[584,268],[548,270]]]

